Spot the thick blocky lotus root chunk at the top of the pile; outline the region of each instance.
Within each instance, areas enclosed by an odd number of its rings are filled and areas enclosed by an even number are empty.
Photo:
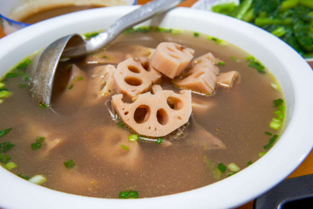
[[[182,73],[190,64],[194,50],[173,42],[162,42],[151,56],[151,65],[169,78]]]

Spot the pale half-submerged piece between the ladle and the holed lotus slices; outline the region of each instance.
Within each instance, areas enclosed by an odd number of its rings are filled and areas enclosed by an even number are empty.
[[[114,91],[115,70],[113,65],[101,65],[91,70],[92,75],[88,83],[86,98],[88,103],[96,102]]]

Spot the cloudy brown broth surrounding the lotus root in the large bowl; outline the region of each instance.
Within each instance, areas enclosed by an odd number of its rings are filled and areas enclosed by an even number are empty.
[[[64,79],[63,90],[54,85],[51,108],[40,108],[27,90],[20,88],[22,77],[6,78],[2,82],[13,95],[1,103],[0,129],[12,127],[12,130],[0,138],[0,143],[15,144],[2,153],[9,154],[17,165],[11,170],[13,173],[43,175],[47,178],[44,186],[78,195],[118,198],[120,191],[132,190],[138,191],[141,198],[211,184],[233,174],[229,168],[224,173],[218,171],[220,163],[225,166],[235,163],[242,170],[266,151],[263,146],[271,136],[264,131],[279,133],[269,127],[276,117],[273,100],[282,98],[280,91],[272,87],[275,81],[268,71],[259,73],[248,66],[251,62],[247,61],[246,53],[203,35],[131,32],[122,34],[100,58],[116,66],[126,55],[136,54],[134,45],[156,48],[164,41],[176,42],[194,49],[195,58],[212,52],[223,60],[218,65],[220,72],[238,71],[240,82],[235,81],[231,88],[217,86],[209,96],[192,93],[192,101],[207,107],[193,107],[191,118],[181,127],[182,134],[171,133],[158,144],[159,139],[151,137],[128,140],[134,132],[124,123],[112,120],[105,106],[114,92],[99,100],[92,97],[88,85],[93,79],[92,69],[100,64],[92,63],[90,58],[99,58],[99,52],[60,64],[60,68],[69,71],[75,64],[83,71],[72,84]],[[90,64],[86,64],[88,60]],[[176,93],[181,90],[166,76],[162,76],[160,85],[163,90]],[[208,149],[204,142],[205,137],[211,137],[208,134],[222,143],[220,149]],[[45,137],[41,148],[32,149],[31,144],[38,136]],[[66,168],[64,162],[71,159],[75,166]]]

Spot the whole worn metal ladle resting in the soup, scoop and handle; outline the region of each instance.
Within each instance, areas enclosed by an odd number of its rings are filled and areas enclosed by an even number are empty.
[[[27,85],[29,92],[38,101],[50,105],[54,75],[61,55],[77,57],[99,50],[117,38],[124,30],[161,14],[182,1],[184,0],[155,0],[146,3],[87,41],[79,34],[71,34],[54,41],[38,54],[33,63]]]

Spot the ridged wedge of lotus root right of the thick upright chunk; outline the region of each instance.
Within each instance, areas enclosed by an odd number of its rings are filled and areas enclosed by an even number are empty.
[[[216,66],[211,60],[203,60],[194,65],[191,70],[183,75],[183,79],[176,80],[174,83],[178,86],[198,91],[205,94],[211,94],[215,90],[217,77]]]

